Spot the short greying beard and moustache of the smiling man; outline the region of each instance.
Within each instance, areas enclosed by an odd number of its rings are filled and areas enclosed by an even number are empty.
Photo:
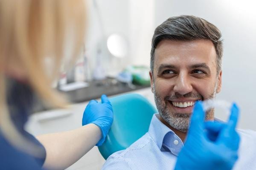
[[[217,85],[218,81],[215,84],[215,88],[212,94],[209,95],[207,99],[214,99],[217,91]],[[157,110],[159,111],[160,116],[173,128],[180,130],[182,132],[187,132],[190,124],[190,116],[191,113],[173,113],[169,111],[167,105],[172,99],[179,99],[181,97],[190,97],[194,99],[200,99],[203,100],[203,96],[200,94],[177,94],[175,93],[174,95],[171,96],[166,96],[164,98],[164,102],[162,102],[160,95],[155,91],[155,87],[153,84],[153,93],[154,93],[154,100],[157,106]],[[205,119],[209,119],[213,117],[214,115],[214,109],[209,109],[205,113]]]

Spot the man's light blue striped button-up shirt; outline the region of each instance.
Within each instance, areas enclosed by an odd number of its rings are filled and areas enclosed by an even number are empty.
[[[102,170],[172,170],[183,147],[181,139],[154,114],[147,133],[108,157]],[[239,130],[239,160],[234,170],[256,170],[256,132]]]

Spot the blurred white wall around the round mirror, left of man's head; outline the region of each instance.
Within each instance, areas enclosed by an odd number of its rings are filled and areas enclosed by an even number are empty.
[[[128,56],[124,59],[116,59],[104,49],[102,63],[108,72],[131,64],[149,66],[151,37],[154,32],[154,0],[96,0],[96,2],[99,14],[93,5],[93,0],[87,0],[89,12],[86,50],[90,70],[93,71],[96,65],[97,45],[100,43],[106,48],[106,38],[113,33],[121,34],[128,41]],[[102,18],[102,25],[99,22],[99,15]]]

